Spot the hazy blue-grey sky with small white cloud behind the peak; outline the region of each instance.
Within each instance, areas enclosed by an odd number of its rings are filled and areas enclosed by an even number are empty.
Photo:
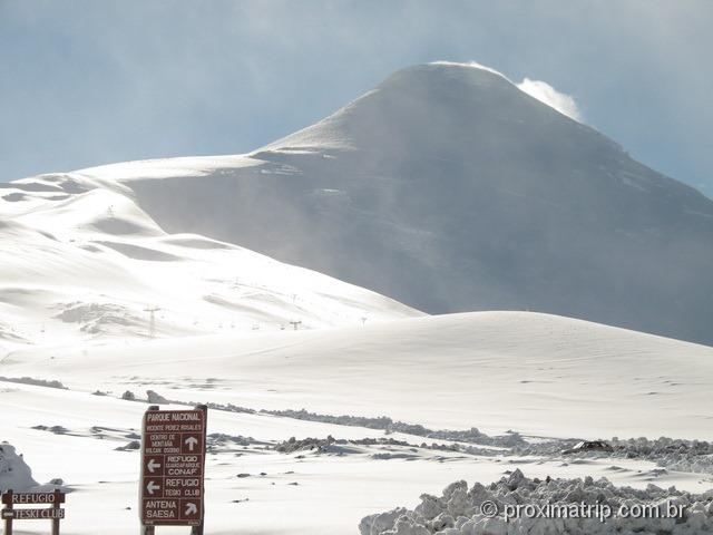
[[[713,1],[604,3],[0,0],[0,182],[253,150],[446,60],[713,197]]]

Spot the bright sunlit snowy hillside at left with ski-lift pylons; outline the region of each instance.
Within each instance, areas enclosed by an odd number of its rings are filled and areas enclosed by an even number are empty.
[[[196,234],[167,234],[116,183],[0,184],[0,353],[23,343],[311,329],[419,315]]]

